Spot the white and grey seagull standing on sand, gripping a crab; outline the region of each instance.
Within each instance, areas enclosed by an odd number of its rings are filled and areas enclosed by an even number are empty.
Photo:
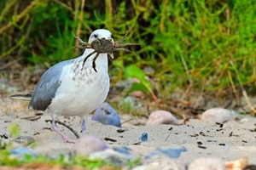
[[[105,29],[91,33],[89,42],[96,39],[113,41],[111,32]],[[57,117],[80,116],[85,134],[86,116],[96,110],[108,96],[108,54],[99,54],[95,61],[96,71],[92,67],[96,54],[90,55],[83,65],[84,59],[93,51],[93,48],[86,48],[84,54],[78,58],[62,61],[45,71],[28,105],[29,109],[49,113],[53,118],[53,130],[61,134],[63,141],[67,143],[74,141],[56,126]],[[10,96],[10,99],[15,99],[14,96]]]

